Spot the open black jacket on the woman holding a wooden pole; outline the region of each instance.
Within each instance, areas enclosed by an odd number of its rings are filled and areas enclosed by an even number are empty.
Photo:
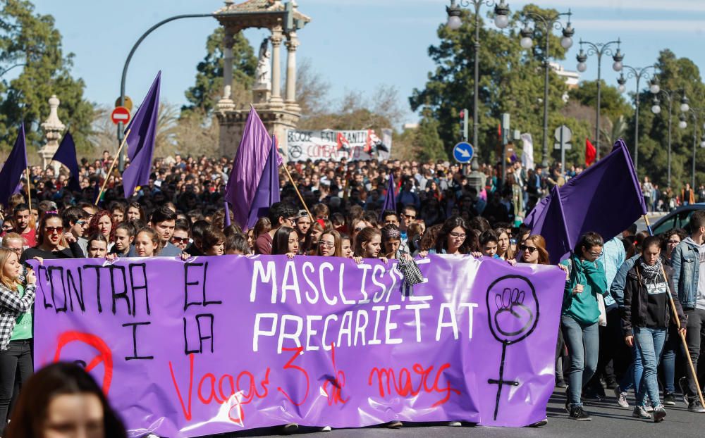
[[[641,259],[637,260],[634,268],[630,269],[627,273],[627,282],[624,287],[624,307],[621,308],[621,314],[622,330],[625,336],[632,334],[632,327],[644,327],[644,325],[646,325],[647,295],[640,260]],[[685,313],[683,313],[683,308],[680,306],[678,296],[673,292],[673,268],[664,265],[663,269],[666,270],[666,277],[668,278],[668,292],[670,296],[673,297],[673,301],[670,302],[675,304],[675,311],[678,313],[680,326],[685,327]],[[664,311],[666,312],[666,321],[668,324],[671,315],[673,315],[673,311],[670,310],[670,304],[666,306]]]

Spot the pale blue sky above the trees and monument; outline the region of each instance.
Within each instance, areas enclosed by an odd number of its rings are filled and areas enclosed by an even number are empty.
[[[75,54],[73,74],[87,85],[85,96],[111,105],[119,94],[125,58],[142,32],[159,20],[182,13],[207,13],[223,5],[218,0],[33,0],[37,11],[54,15],[65,51]],[[381,84],[398,87],[407,97],[423,87],[434,68],[427,56],[436,44],[436,29],[445,23],[449,0],[298,0],[312,23],[299,32],[298,57],[331,83],[332,98],[347,90],[368,95]],[[516,11],[527,1],[508,1]],[[565,68],[575,70],[577,41],[606,42],[620,37],[625,64],[650,65],[658,51],[670,48],[677,56],[704,65],[705,0],[538,0],[558,11],[572,9],[574,46]],[[489,11],[484,6],[482,11]],[[162,70],[162,99],[185,103],[184,91],[193,84],[195,67],[205,54],[206,37],[216,27],[212,18],[176,21],[161,27],[142,43],[127,78],[127,94],[141,101],[154,75]],[[253,46],[267,35],[249,30]],[[519,42],[517,41],[517,44]],[[283,60],[286,62],[286,58]],[[611,58],[603,59],[603,78],[615,84]],[[285,65],[285,64],[283,64]],[[581,79],[594,80],[596,58],[588,61]],[[635,82],[627,84],[633,91]],[[61,96],[59,96],[61,98]],[[468,103],[470,104],[470,102]],[[407,120],[415,121],[410,111]],[[354,128],[354,127],[351,127]]]

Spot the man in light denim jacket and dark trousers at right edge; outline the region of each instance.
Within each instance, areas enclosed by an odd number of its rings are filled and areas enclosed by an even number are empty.
[[[690,237],[673,250],[673,287],[688,318],[685,341],[693,365],[697,367],[700,342],[705,337],[705,211],[690,218]],[[688,411],[705,413],[698,398],[697,386],[690,370],[687,375]]]

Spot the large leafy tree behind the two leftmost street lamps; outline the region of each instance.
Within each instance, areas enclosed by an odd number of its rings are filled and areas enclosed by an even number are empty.
[[[541,14],[557,13],[527,5],[513,15],[510,30],[501,32],[482,24],[479,49],[479,155],[488,161],[496,156],[497,127],[502,113],[510,113],[512,126],[534,135],[534,157],[541,161],[541,131],[543,125],[544,64],[539,44],[526,52],[519,45],[517,23],[528,11]],[[459,30],[448,30],[441,25],[438,35],[441,43],[429,47],[429,56],[436,70],[429,73],[424,89],[415,89],[410,97],[413,111],[428,105],[439,121],[439,134],[446,151],[460,139],[458,116],[460,108],[472,108],[474,75],[474,15],[462,11],[463,25]],[[565,49],[556,35],[549,38],[549,58],[565,58]],[[544,41],[541,26],[535,32],[535,42]],[[553,119],[549,135],[556,125],[556,111],[565,102],[561,96],[567,91],[563,79],[549,71],[548,109]],[[549,143],[552,144],[549,138]],[[478,145],[476,145],[478,146]],[[552,149],[550,149],[552,151]],[[494,152],[494,153],[493,153]]]

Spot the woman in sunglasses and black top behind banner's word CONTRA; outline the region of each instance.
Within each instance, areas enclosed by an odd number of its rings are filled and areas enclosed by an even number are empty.
[[[63,222],[56,213],[47,213],[39,220],[37,230],[37,246],[27,248],[22,253],[20,261],[24,263],[30,258],[83,258],[78,242],[66,244],[63,238]]]

